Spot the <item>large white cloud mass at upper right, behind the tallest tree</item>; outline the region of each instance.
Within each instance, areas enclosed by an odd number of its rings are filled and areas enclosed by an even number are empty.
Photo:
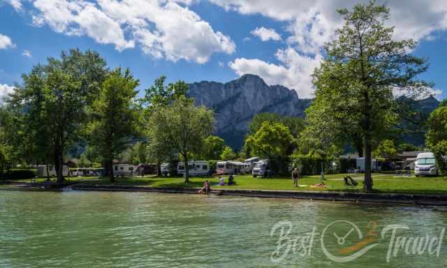
[[[312,73],[319,66],[323,45],[334,38],[335,29],[342,25],[338,8],[352,8],[357,0],[210,0],[241,14],[261,14],[287,24],[288,48],[278,50],[280,64],[268,64],[259,59],[235,59],[230,67],[235,73],[254,73],[269,84],[284,84],[298,91],[300,97],[310,97],[314,91]],[[368,0],[360,0],[367,3]],[[390,8],[389,25],[395,26],[395,38],[433,40],[434,31],[447,30],[447,1],[379,0]],[[439,89],[433,91],[439,96]]]

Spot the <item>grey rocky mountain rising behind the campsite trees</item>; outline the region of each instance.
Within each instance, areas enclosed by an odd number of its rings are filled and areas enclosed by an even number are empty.
[[[296,91],[280,85],[269,86],[258,75],[242,75],[225,84],[195,82],[189,84],[188,96],[197,105],[212,108],[216,117],[215,134],[229,146],[239,149],[244,144],[248,124],[261,112],[274,112],[291,117],[304,117],[311,99],[300,99]]]

